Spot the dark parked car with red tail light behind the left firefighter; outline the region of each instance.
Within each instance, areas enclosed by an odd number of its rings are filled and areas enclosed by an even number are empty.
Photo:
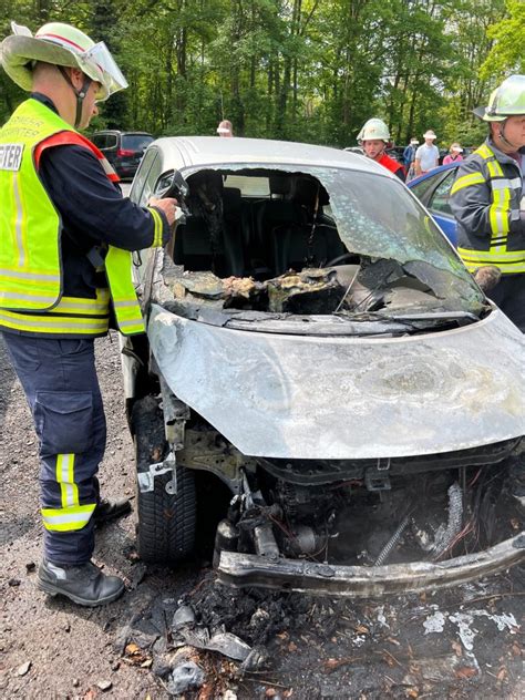
[[[91,141],[110,161],[119,177],[132,179],[144,151],[155,136],[147,132],[106,130],[95,132]]]

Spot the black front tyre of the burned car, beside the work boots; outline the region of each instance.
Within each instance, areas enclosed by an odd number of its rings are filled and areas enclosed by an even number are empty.
[[[184,466],[176,467],[176,494],[166,491],[172,472],[155,476],[153,491],[137,493],[136,548],[141,559],[148,564],[176,564],[195,545],[195,477]]]

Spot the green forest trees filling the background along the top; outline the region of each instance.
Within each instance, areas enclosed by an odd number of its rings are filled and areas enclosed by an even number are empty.
[[[380,116],[393,138],[480,140],[472,116],[524,70],[523,0],[0,0],[37,30],[70,22],[107,43],[130,89],[93,126],[352,145]],[[0,74],[0,117],[22,92]]]

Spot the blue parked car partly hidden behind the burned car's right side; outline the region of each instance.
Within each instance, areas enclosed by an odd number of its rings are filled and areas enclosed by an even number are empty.
[[[454,246],[457,245],[456,220],[449,197],[459,166],[459,163],[441,165],[406,184]]]

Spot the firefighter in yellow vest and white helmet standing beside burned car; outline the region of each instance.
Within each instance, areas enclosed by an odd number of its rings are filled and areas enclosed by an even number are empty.
[[[40,443],[44,553],[39,588],[85,606],[114,600],[116,576],[92,562],[94,526],[130,509],[101,500],[105,418],[94,339],[142,333],[131,251],[163,246],[176,200],[137,207],[102,153],[76,130],[127,86],[106,45],[52,22],[12,24],[0,47],[31,95],[0,130],[0,331]]]

